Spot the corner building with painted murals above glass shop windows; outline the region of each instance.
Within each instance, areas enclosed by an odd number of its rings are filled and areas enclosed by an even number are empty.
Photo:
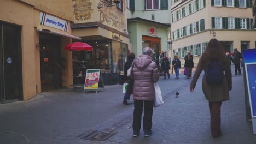
[[[101,69],[105,85],[117,84],[131,51],[126,1],[115,4],[111,0],[74,0],[73,14],[72,34],[94,47],[91,52],[73,52],[73,57],[79,55],[87,61],[87,68]]]

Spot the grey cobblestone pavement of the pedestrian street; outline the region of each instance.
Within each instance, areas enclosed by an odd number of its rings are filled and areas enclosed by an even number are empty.
[[[0,143],[256,143],[252,125],[246,122],[243,76],[232,77],[230,101],[222,105],[223,136],[218,139],[210,134],[201,77],[193,93],[188,89],[191,79],[174,77],[159,81],[165,104],[154,109],[149,138],[144,138],[143,131],[132,138],[133,104],[120,104],[122,86],[117,85],[98,94],[61,90],[2,104]],[[94,130],[117,134],[106,141],[81,139]]]

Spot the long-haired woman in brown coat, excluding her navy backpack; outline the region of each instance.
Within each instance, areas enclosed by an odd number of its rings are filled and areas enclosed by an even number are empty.
[[[202,79],[202,91],[205,94],[205,98],[209,101],[209,108],[211,113],[211,134],[213,137],[219,137],[222,135],[220,131],[220,107],[222,101],[229,100],[229,91],[232,89],[232,78],[229,59],[225,56],[222,46],[217,39],[211,39],[206,47],[204,53],[202,53],[199,59],[193,80],[190,84],[190,92],[194,91],[197,79],[199,78],[202,70],[206,72],[207,63],[211,59],[217,59],[222,62],[223,82],[219,85],[212,85],[206,82],[206,76],[203,75]]]

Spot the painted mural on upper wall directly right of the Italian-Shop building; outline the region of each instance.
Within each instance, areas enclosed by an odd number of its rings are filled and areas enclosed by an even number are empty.
[[[78,21],[86,21],[91,19],[92,9],[91,0],[73,0],[74,17]]]

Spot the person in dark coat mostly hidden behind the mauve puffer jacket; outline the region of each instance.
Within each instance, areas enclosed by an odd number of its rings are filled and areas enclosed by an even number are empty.
[[[124,65],[124,76],[125,76],[125,82],[128,81],[129,77],[127,77],[127,70],[131,67],[133,60],[135,59],[135,53],[131,52],[130,55],[127,57],[127,62],[125,62]],[[130,100],[131,94],[125,92],[123,104],[129,104],[127,100]]]

